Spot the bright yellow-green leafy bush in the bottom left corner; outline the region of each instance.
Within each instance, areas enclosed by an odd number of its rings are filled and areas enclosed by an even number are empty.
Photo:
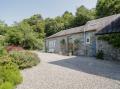
[[[22,81],[18,66],[11,60],[9,56],[0,57],[0,89],[13,89]]]

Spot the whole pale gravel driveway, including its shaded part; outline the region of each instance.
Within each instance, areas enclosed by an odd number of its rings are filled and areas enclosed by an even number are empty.
[[[41,63],[21,71],[24,80],[17,89],[120,89],[119,63],[50,53],[38,55]]]

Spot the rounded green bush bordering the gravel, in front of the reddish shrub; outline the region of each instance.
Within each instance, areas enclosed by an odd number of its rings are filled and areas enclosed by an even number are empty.
[[[13,57],[12,62],[16,63],[20,69],[35,66],[40,62],[38,56],[32,52],[12,51],[10,56]]]

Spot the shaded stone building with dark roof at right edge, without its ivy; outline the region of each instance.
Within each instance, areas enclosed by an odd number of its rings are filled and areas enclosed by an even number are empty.
[[[100,37],[117,37],[120,36],[120,17],[112,21],[110,24],[106,25],[100,31],[96,33],[97,39]],[[117,37],[118,38],[118,37]],[[116,38],[116,39],[117,39]],[[120,48],[113,47],[105,40],[96,40],[97,51],[102,50],[104,53],[104,59],[108,60],[120,60]],[[114,38],[115,39],[115,38]],[[117,39],[118,42],[120,40]],[[119,45],[120,46],[120,45]]]

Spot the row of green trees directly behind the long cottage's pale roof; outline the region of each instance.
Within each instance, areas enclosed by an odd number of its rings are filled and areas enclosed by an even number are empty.
[[[84,25],[88,20],[95,19],[95,15],[95,9],[88,10],[86,7],[80,6],[75,16],[71,12],[66,11],[62,16],[47,18],[45,19],[46,36],[48,37],[59,31]]]

